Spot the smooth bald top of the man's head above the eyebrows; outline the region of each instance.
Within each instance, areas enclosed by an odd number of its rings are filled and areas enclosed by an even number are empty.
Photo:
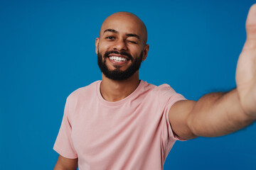
[[[124,28],[126,26],[126,28]],[[140,40],[143,44],[147,41],[146,26],[143,21],[133,13],[129,12],[117,12],[108,16],[102,23],[100,28],[100,37],[105,33],[106,30],[116,30],[118,32],[130,31],[131,34],[139,34]]]

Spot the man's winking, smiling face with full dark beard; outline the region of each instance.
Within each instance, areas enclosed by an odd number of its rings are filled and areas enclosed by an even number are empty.
[[[105,20],[96,39],[97,62],[105,77],[124,80],[132,77],[146,59],[144,28],[134,16],[113,15]]]

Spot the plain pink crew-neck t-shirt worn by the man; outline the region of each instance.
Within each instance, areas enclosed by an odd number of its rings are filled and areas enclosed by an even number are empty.
[[[169,110],[185,100],[167,84],[140,81],[120,101],[105,101],[101,81],[74,91],[67,98],[63,122],[53,149],[78,158],[80,170],[163,169],[174,142]]]

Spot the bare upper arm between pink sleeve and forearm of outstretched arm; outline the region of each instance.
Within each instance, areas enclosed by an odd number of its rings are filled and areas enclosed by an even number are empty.
[[[173,106],[171,106],[169,111],[171,129],[176,135],[178,135],[178,137],[181,137],[184,140],[196,137],[188,126],[188,115],[191,113],[195,104],[196,101],[177,101]]]

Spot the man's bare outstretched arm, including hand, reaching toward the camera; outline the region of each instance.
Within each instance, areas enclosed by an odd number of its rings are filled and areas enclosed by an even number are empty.
[[[237,88],[213,93],[198,101],[178,101],[169,111],[179,137],[216,137],[240,130],[256,120],[256,4],[246,22],[247,40],[238,60]]]

